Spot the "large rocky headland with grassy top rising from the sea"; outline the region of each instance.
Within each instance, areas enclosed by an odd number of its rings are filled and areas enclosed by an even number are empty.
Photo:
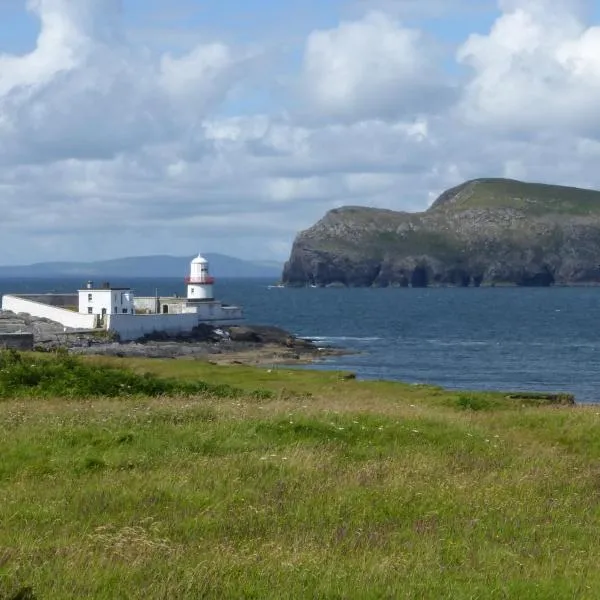
[[[600,192],[480,179],[423,213],[344,207],[301,232],[288,285],[600,283]]]

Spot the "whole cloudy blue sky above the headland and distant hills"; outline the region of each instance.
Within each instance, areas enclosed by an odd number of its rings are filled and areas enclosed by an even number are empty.
[[[0,0],[0,264],[285,260],[328,210],[600,189],[600,0]]]

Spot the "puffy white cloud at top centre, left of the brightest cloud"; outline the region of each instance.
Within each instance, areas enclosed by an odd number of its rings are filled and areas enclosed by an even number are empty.
[[[312,32],[303,85],[321,115],[343,120],[397,119],[434,110],[450,88],[422,32],[374,11]]]

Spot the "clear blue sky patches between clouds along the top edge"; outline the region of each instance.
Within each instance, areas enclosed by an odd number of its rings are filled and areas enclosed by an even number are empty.
[[[376,6],[377,3],[370,3]],[[306,35],[316,28],[335,26],[341,18],[361,12],[365,3],[345,0],[124,0],[126,25],[132,29],[173,29],[202,35],[228,36],[238,41],[278,39]],[[600,13],[600,8],[596,8]],[[476,0],[458,10],[406,10],[404,20],[424,26],[434,34],[458,43],[473,31],[485,31],[497,15],[493,2]],[[402,13],[401,13],[402,14]],[[439,15],[439,16],[438,16]],[[285,24],[282,27],[282,24]],[[0,1],[0,48],[26,52],[35,46],[39,21],[27,11],[23,0]],[[290,35],[291,32],[291,35]]]

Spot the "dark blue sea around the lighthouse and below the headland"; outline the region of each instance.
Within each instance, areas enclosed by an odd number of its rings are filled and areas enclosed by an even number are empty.
[[[8,292],[70,292],[80,279],[0,279]],[[181,279],[111,279],[137,295],[185,293]],[[600,402],[600,287],[278,288],[222,279],[246,322],[351,354],[310,368],[450,389],[570,392]]]

